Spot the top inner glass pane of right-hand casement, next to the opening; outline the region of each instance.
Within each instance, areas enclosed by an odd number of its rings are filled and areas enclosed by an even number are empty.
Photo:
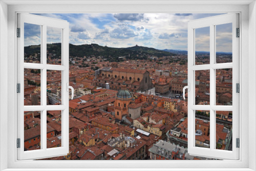
[[[195,29],[196,65],[210,63],[210,27]]]

